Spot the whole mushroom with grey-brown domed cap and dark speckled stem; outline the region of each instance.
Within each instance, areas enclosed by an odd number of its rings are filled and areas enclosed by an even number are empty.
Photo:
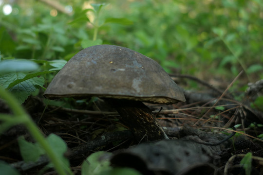
[[[137,141],[168,139],[142,102],[186,101],[182,88],[157,62],[114,45],[96,45],[75,54],[44,92],[49,99],[91,96],[110,103]]]

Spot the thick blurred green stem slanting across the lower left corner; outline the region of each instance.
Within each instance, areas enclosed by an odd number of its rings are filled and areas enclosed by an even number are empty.
[[[32,121],[30,116],[24,111],[19,102],[13,97],[12,94],[7,92],[4,88],[0,87],[0,97],[6,101],[6,103],[10,106],[10,108],[14,112],[14,120],[21,121],[28,129],[30,134],[34,137],[36,141],[43,147],[47,156],[50,158],[54,167],[59,175],[72,175],[72,172],[68,167],[65,167],[61,164],[60,160],[56,157],[56,154],[52,150],[51,146],[45,140],[44,136],[41,134],[37,125]],[[6,116],[3,116],[4,119]],[[14,121],[14,124],[17,122]],[[65,169],[66,168],[66,169]]]

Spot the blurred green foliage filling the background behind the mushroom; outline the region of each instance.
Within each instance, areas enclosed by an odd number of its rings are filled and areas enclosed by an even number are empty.
[[[245,82],[263,78],[261,0],[61,0],[73,12],[56,17],[42,1],[0,11],[2,59],[69,60],[103,43],[143,53],[168,72],[232,80],[244,70]]]

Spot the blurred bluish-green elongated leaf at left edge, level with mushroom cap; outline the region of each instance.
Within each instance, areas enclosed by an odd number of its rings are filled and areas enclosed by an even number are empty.
[[[15,71],[33,71],[38,69],[38,64],[28,60],[3,60],[0,62],[0,73]]]

